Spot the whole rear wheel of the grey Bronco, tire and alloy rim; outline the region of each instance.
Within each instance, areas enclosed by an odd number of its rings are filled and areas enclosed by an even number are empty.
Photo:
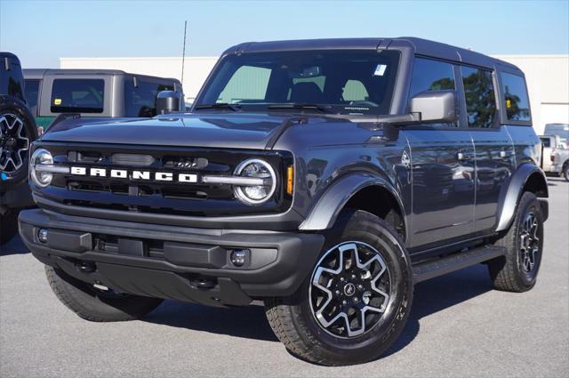
[[[507,253],[488,261],[493,286],[517,293],[535,286],[543,251],[543,214],[533,193],[520,198],[512,225],[496,245],[505,246]]]

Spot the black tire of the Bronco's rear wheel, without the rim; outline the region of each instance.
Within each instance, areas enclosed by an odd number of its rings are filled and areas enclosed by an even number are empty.
[[[539,227],[539,252],[535,255],[534,266],[531,272],[526,273],[521,266],[521,233],[524,228],[525,217],[533,213]],[[506,247],[506,255],[488,261],[488,271],[497,290],[523,293],[535,286],[537,274],[541,265],[543,251],[543,214],[541,205],[533,193],[525,192],[517,204],[514,221],[508,232],[495,242],[495,245]]]

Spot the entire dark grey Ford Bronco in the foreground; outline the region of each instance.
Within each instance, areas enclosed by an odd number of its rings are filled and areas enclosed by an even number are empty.
[[[535,285],[540,152],[501,60],[408,37],[239,44],[191,114],[34,143],[20,235],[82,318],[260,300],[293,354],[356,364],[397,340],[418,282],[484,262],[499,290]]]

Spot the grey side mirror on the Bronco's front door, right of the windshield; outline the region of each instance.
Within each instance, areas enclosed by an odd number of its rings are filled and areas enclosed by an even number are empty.
[[[421,122],[458,121],[455,91],[427,91],[411,99],[411,112],[421,114]]]

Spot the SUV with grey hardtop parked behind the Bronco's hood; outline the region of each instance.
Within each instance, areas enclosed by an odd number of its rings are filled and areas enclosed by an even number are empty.
[[[80,114],[83,123],[155,117],[158,92],[182,92],[177,79],[116,69],[24,69],[24,78],[29,108],[44,130],[66,113]],[[183,95],[180,101],[184,109]]]

